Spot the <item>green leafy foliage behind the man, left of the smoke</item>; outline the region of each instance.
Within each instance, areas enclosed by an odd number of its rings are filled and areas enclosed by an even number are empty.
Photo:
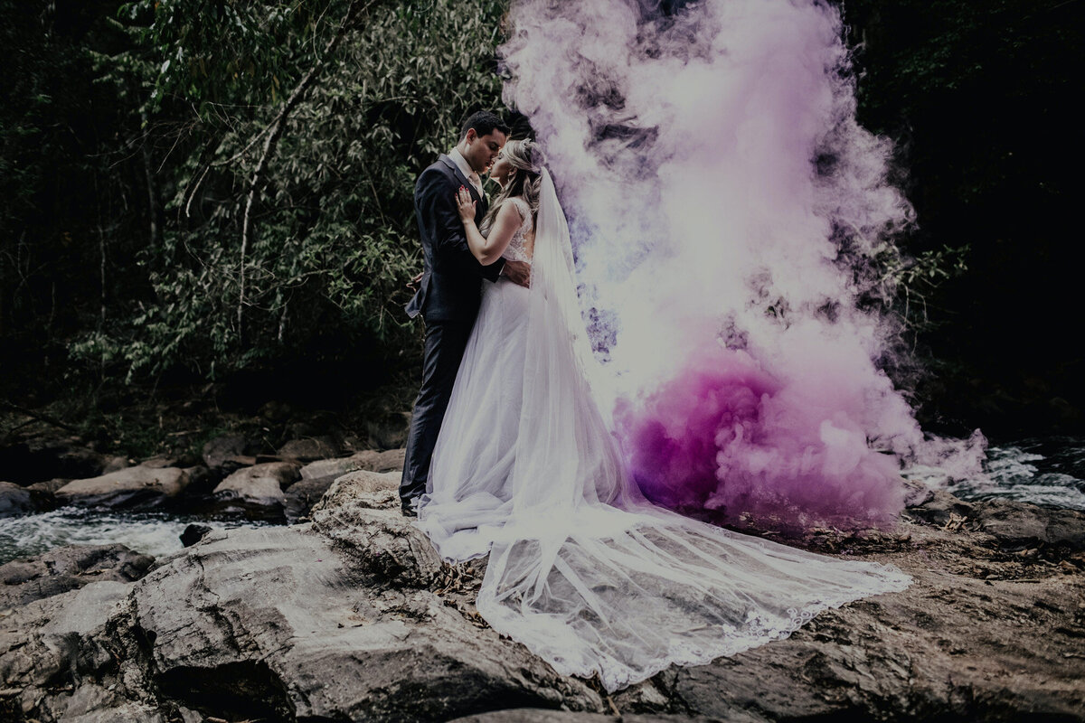
[[[322,57],[348,3],[143,0],[120,8],[148,132],[170,137],[167,224],[140,268],[153,294],[72,353],[129,380],[183,366],[208,377],[283,356],[416,346],[405,283],[421,268],[417,175],[461,118],[496,107],[499,2],[373,4]],[[241,292],[246,194],[285,98],[320,62],[269,157]],[[243,327],[235,310],[243,305]]]

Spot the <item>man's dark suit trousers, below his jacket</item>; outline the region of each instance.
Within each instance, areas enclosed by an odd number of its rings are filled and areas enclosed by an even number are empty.
[[[471,336],[474,321],[434,321],[425,325],[425,351],[422,361],[422,387],[414,400],[414,413],[407,436],[407,460],[399,482],[404,504],[425,492],[430,461],[437,443],[441,422],[452,395],[456,372]]]

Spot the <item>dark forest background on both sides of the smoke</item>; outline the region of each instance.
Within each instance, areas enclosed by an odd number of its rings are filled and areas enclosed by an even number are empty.
[[[928,429],[1078,434],[1082,2],[842,8],[859,120],[918,217],[882,259],[906,322],[888,371]],[[269,403],[401,426],[413,182],[501,108],[507,11],[0,0],[0,435],[146,455]]]

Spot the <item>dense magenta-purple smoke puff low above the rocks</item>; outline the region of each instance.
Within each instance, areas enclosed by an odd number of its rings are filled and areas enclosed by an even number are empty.
[[[781,384],[742,351],[695,354],[642,408],[618,405],[634,480],[658,504],[732,525],[892,521],[897,462],[867,447],[854,423],[861,400],[846,409],[846,389],[831,388],[846,382],[822,382]]]

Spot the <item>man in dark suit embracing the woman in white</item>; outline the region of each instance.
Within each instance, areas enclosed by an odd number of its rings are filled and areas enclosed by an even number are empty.
[[[506,259],[486,267],[478,263],[468,247],[456,209],[456,192],[464,186],[475,201],[475,223],[482,223],[489,205],[480,175],[493,165],[508,137],[509,127],[493,113],[471,115],[460,130],[456,147],[422,171],[414,184],[423,271],[418,293],[407,305],[407,314],[411,318],[422,314],[425,351],[422,387],[414,400],[407,460],[399,483],[403,513],[408,517],[417,516],[414,505],[425,492],[430,460],[452,393],[456,371],[478,314],[482,280],[506,276],[521,286],[528,284],[528,263]]]

